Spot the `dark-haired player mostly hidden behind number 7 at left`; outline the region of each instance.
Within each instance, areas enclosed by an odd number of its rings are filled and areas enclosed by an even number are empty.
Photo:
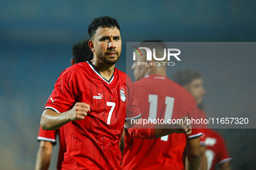
[[[85,39],[73,45],[73,58],[70,59],[71,66],[76,63],[90,61],[93,59],[93,53],[88,46],[88,42],[89,40]],[[56,144],[56,135],[58,135],[59,138],[57,170],[62,168],[64,153],[66,151],[63,127],[58,130],[51,131],[42,130],[42,128],[39,127],[37,140],[40,142],[40,146],[36,157],[36,170],[48,170],[51,161],[52,147]]]

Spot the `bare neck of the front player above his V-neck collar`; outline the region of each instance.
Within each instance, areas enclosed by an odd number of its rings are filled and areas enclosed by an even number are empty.
[[[95,68],[100,72],[100,75],[104,78],[107,79],[108,81],[113,75],[115,64],[113,65],[107,65],[103,62],[100,62],[98,60],[92,60],[91,61],[92,65],[95,66]]]

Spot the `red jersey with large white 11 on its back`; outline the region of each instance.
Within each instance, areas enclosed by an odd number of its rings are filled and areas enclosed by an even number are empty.
[[[167,77],[145,76],[133,85],[142,119],[180,119],[197,114],[192,95]],[[189,136],[174,133],[145,140],[135,139],[126,133],[122,167],[125,170],[185,169],[186,138],[197,138],[201,134],[197,129],[192,129]]]

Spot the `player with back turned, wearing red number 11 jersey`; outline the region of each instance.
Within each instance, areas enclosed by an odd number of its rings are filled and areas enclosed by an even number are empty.
[[[144,41],[138,47],[148,47],[151,51],[155,48],[156,56],[161,57],[164,55],[164,48],[167,49],[162,41]],[[181,117],[180,113],[184,112],[188,117],[196,116],[197,105],[193,96],[185,88],[166,77],[166,64],[154,66],[152,63],[155,60],[147,61],[146,51],[141,50],[141,53],[142,56],[136,55],[132,69],[136,80],[133,83],[135,97],[142,119],[178,119]],[[146,66],[138,65],[139,62],[148,63]],[[197,129],[192,129],[192,134],[188,136],[171,134],[158,139],[145,140],[135,139],[125,133],[122,167],[124,170],[185,170],[185,158],[188,154],[189,170],[198,170],[201,134]]]

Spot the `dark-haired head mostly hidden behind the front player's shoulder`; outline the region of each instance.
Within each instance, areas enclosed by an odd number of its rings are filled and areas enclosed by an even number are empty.
[[[80,63],[84,61],[91,61],[93,59],[93,52],[88,45],[89,39],[84,39],[78,42],[72,47],[72,54],[75,63]]]

